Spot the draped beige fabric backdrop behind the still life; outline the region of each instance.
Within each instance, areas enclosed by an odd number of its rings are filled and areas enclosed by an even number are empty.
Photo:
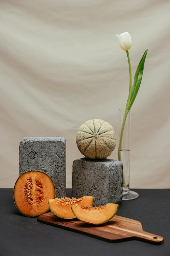
[[[170,188],[169,10],[169,0],[1,0],[0,187],[19,176],[25,136],[66,138],[67,187],[82,157],[79,126],[104,119],[118,136],[129,74],[115,36],[128,31],[133,77],[148,48],[132,107],[130,185]]]

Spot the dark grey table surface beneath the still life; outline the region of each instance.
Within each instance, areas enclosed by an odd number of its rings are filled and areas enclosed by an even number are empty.
[[[163,236],[162,245],[136,240],[109,243],[39,223],[19,213],[13,189],[0,189],[0,256],[170,256],[170,189],[134,190],[139,198],[122,201],[117,214],[138,220],[145,231]]]

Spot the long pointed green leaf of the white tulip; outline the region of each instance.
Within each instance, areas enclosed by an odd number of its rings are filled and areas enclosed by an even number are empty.
[[[140,87],[140,84],[141,84],[141,81],[142,81],[143,69],[144,69],[144,64],[145,64],[145,59],[146,59],[146,56],[147,56],[147,52],[148,52],[148,49],[145,51],[144,55],[142,56],[142,59],[139,62],[139,65],[136,69],[134,82],[133,82],[133,85],[132,85],[130,103],[129,103],[129,106],[126,106],[126,109],[128,109],[128,110],[131,109],[131,107],[132,107],[132,105],[135,101],[136,95],[139,91],[139,87]]]

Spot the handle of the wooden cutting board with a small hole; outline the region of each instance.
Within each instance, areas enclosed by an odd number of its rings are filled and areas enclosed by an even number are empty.
[[[146,231],[141,231],[141,232],[136,231],[134,234],[137,240],[147,240],[148,242],[150,241],[151,243],[154,243],[154,244],[163,243],[163,237],[159,235],[154,235]]]

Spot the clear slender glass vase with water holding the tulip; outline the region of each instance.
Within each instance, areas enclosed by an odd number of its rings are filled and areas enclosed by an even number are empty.
[[[123,196],[122,200],[133,200],[139,195],[129,190],[130,179],[130,140],[131,110],[119,110],[119,148],[118,159],[123,163]]]

